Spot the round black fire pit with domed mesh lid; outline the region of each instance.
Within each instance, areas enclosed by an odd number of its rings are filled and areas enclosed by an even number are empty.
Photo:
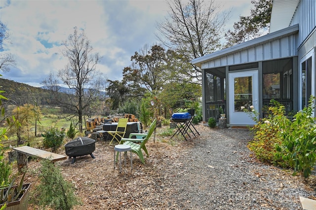
[[[90,154],[95,158],[92,152],[95,150],[95,140],[87,137],[79,137],[65,144],[66,155],[73,157],[71,164],[75,163],[76,157]]]

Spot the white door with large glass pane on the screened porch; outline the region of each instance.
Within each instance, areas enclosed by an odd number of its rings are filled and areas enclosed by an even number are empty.
[[[229,116],[230,124],[254,125],[250,115],[241,108],[250,109],[258,104],[258,70],[243,71],[229,74]]]

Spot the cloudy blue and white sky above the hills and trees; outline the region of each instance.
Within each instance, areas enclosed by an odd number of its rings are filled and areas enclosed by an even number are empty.
[[[227,30],[233,29],[240,15],[250,14],[250,1],[215,0],[222,11],[231,10]],[[3,52],[16,60],[15,67],[0,74],[4,79],[42,86],[49,73],[56,75],[67,64],[60,43],[77,27],[84,29],[102,56],[97,70],[120,81],[136,51],[145,44],[159,44],[155,24],[167,17],[168,10],[165,0],[0,0],[0,21],[10,34]]]

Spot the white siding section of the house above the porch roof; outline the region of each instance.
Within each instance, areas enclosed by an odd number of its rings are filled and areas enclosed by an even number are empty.
[[[288,27],[300,0],[274,0],[269,32]]]

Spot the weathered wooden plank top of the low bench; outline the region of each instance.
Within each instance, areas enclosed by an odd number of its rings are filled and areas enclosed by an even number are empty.
[[[65,155],[48,152],[45,150],[30,147],[30,146],[14,147],[13,149],[25,155],[36,156],[39,158],[51,160],[53,162],[67,159],[67,156]]]

